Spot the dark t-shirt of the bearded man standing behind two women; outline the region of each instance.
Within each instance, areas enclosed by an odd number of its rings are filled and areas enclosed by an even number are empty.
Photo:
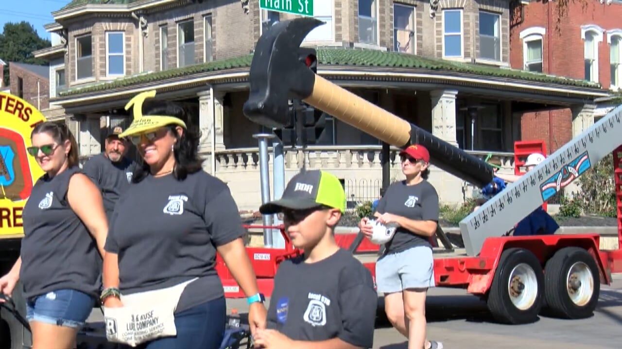
[[[128,189],[137,166],[129,158],[123,157],[115,163],[101,153],[90,158],[82,167],[82,171],[100,188],[108,218],[119,196]]]

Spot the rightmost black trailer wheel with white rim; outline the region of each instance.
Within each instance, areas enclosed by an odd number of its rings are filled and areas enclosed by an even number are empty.
[[[547,261],[545,298],[552,314],[565,319],[592,316],[600,292],[600,274],[594,257],[579,247],[566,247]]]

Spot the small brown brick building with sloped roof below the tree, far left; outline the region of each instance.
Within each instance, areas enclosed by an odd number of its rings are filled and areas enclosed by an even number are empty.
[[[50,106],[50,67],[9,63],[11,94],[29,102],[39,111]]]

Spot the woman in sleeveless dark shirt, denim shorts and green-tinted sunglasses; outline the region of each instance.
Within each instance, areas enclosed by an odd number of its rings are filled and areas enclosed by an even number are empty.
[[[24,207],[21,256],[0,278],[0,292],[11,295],[21,280],[33,347],[70,349],[99,293],[108,222],[67,126],[42,122],[30,138],[28,153],[45,174]]]

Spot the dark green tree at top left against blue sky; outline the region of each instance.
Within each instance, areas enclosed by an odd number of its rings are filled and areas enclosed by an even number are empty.
[[[6,63],[14,61],[43,65],[47,61],[42,58],[35,58],[32,52],[50,47],[51,45],[50,40],[42,39],[37,35],[37,30],[34,29],[32,24],[26,21],[19,23],[8,22],[4,24],[4,29],[2,34],[0,34],[0,58]],[[5,83],[8,83],[8,66],[4,67],[4,79]]]

